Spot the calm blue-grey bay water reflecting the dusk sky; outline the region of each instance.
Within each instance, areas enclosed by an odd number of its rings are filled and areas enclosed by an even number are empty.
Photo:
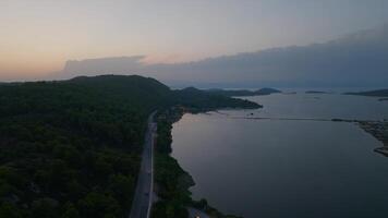
[[[255,217],[388,217],[388,158],[353,123],[241,117],[388,118],[388,102],[341,95],[252,97],[259,110],[185,114],[173,153],[196,181],[194,198]],[[253,114],[251,114],[253,113]]]

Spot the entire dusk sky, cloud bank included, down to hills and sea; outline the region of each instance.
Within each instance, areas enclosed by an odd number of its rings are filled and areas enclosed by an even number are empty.
[[[386,11],[381,0],[3,1],[0,81],[112,73],[170,86],[384,86]]]

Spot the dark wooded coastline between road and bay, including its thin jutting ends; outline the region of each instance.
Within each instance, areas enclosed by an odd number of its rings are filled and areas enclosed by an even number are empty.
[[[195,185],[192,175],[182,169],[178,160],[171,157],[171,130],[173,123],[178,122],[185,113],[209,112],[215,109],[197,109],[172,107],[157,114],[158,138],[155,161],[155,183],[158,202],[154,203],[151,217],[167,216],[166,210],[173,211],[173,217],[189,217],[189,210],[198,210],[208,217],[215,218],[241,218],[233,215],[225,215],[208,205],[205,198],[194,201],[189,189]],[[168,178],[168,179],[166,179]],[[168,180],[168,181],[167,181]],[[165,214],[163,214],[165,213]]]

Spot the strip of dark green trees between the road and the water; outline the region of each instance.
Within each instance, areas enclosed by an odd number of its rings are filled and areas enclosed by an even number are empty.
[[[157,143],[155,156],[155,182],[160,201],[153,207],[153,217],[187,217],[185,206],[191,203],[189,187],[194,185],[185,172],[169,154],[171,153],[172,123],[183,114],[182,108],[171,108],[158,114]]]

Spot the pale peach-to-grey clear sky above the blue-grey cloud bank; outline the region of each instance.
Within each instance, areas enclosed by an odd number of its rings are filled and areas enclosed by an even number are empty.
[[[177,63],[304,46],[387,22],[386,0],[1,0],[0,81],[43,77],[68,60]]]

